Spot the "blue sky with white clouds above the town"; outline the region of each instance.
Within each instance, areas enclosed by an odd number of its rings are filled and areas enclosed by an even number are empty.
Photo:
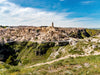
[[[1,0],[0,24],[100,28],[100,0]]]

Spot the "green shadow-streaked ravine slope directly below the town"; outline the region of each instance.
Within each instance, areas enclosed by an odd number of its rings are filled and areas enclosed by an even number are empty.
[[[5,46],[9,47],[9,49],[12,49],[15,53],[10,56],[8,55],[8,58],[6,60],[7,64],[14,64],[14,60],[18,60],[19,64],[21,63],[22,65],[26,65],[45,61],[51,54],[54,43],[38,44],[33,42],[19,42],[13,44],[6,44],[4,45],[4,47]],[[8,51],[10,51],[9,49]],[[40,54],[36,55],[35,52],[37,51]],[[15,56],[16,58],[14,58]]]

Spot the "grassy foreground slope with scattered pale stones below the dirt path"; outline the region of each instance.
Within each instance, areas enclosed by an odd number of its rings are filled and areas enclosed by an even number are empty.
[[[68,58],[50,65],[23,69],[13,67],[5,75],[95,75],[100,74],[100,55]],[[3,75],[2,74],[2,75]]]

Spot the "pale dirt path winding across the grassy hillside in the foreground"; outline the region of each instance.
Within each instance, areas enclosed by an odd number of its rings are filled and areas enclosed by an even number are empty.
[[[85,55],[67,55],[65,57],[61,57],[61,58],[58,58],[58,59],[55,59],[55,60],[52,60],[52,61],[48,61],[48,62],[45,62],[45,63],[38,63],[38,64],[35,64],[35,65],[32,65],[32,66],[29,66],[27,68],[32,68],[32,67],[35,67],[35,66],[41,66],[41,65],[46,65],[46,64],[52,64],[54,62],[57,62],[57,61],[60,61],[60,60],[63,60],[63,59],[66,59],[66,58],[69,58],[69,57],[83,57],[83,56],[89,56],[91,54],[85,54]],[[92,55],[100,55],[100,52],[95,52],[94,54]]]

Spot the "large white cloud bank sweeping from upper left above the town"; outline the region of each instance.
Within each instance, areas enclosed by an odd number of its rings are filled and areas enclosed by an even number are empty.
[[[90,18],[68,19],[70,13],[47,12],[36,8],[24,8],[6,0],[0,0],[0,24],[1,25],[33,25],[50,26],[53,21],[56,26],[60,27],[81,27],[80,21]],[[84,27],[84,26],[83,26]]]

